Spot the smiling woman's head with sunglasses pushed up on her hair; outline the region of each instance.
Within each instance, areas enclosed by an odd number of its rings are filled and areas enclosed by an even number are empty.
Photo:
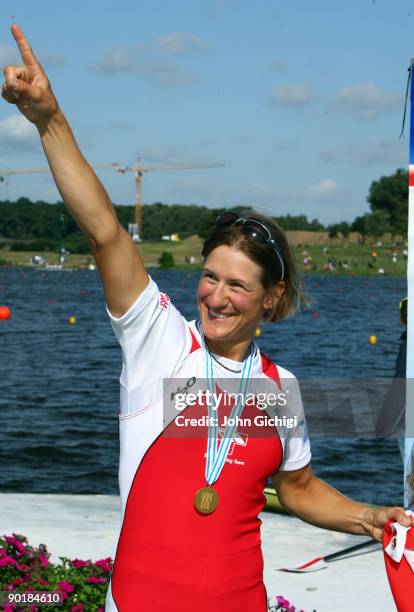
[[[219,217],[205,241],[197,302],[214,353],[242,361],[260,321],[294,312],[300,285],[287,240],[258,213]]]

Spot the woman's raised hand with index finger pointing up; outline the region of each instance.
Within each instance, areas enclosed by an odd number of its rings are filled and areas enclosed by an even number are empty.
[[[37,61],[22,30],[17,24],[11,27],[19,47],[23,65],[4,68],[3,98],[15,104],[19,111],[35,125],[48,122],[59,106],[49,80]]]

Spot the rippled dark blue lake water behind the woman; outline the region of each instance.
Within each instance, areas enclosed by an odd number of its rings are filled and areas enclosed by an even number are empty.
[[[197,272],[152,275],[187,319],[197,316]],[[260,348],[299,379],[392,376],[405,279],[307,276],[305,289],[311,308],[263,326]],[[117,493],[121,353],[97,272],[0,268],[2,304],[12,318],[0,322],[1,491]],[[314,471],[343,493],[401,503],[395,440],[311,444]]]

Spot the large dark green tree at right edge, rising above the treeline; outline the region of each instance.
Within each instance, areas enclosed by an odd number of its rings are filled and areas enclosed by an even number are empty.
[[[393,235],[407,234],[408,173],[406,170],[399,168],[391,176],[382,176],[378,181],[374,181],[369,188],[367,201],[372,213],[381,211],[388,215],[388,226],[384,226],[384,233],[388,231]],[[380,215],[371,219],[369,224],[371,228],[377,228],[378,224],[383,224],[385,220],[386,216]]]

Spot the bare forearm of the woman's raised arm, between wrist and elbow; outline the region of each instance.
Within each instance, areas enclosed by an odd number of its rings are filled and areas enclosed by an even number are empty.
[[[72,130],[60,109],[36,123],[56,186],[71,215],[99,246],[109,242],[118,219],[102,183],[83,157]]]

